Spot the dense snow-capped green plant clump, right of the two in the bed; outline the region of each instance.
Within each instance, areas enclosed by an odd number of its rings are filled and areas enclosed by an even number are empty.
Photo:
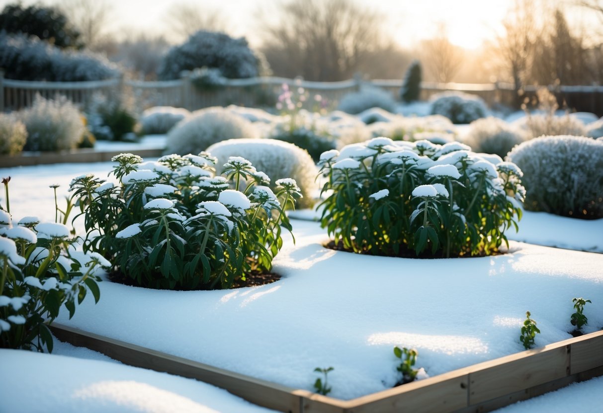
[[[321,225],[336,246],[359,253],[496,253],[521,217],[522,173],[469,149],[378,137],[325,152]]]

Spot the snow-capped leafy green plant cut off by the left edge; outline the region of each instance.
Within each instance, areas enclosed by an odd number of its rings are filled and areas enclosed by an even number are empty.
[[[95,272],[110,263],[75,250],[65,225],[37,217],[16,223],[9,207],[7,196],[6,210],[0,206],[0,347],[52,352],[48,324],[63,305],[71,318],[88,291],[98,302]]]

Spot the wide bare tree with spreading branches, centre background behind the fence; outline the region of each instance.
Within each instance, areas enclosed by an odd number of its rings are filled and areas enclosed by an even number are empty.
[[[280,3],[277,22],[260,18],[274,73],[315,81],[349,79],[382,45],[379,14],[346,0]]]

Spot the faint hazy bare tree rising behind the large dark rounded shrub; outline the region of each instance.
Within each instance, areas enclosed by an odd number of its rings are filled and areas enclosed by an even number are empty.
[[[226,32],[228,26],[221,10],[187,2],[170,5],[166,16],[172,33],[181,39],[200,30]]]

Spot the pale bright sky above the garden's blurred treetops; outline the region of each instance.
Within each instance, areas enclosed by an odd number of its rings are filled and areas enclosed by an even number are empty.
[[[65,0],[46,0],[45,4],[62,4]],[[254,13],[262,7],[270,11],[282,0],[106,0],[110,5],[110,31],[128,33],[145,31],[149,34],[166,34],[169,25],[166,14],[173,4],[187,2],[200,8],[221,8],[229,20],[229,34],[245,36],[252,46],[260,42]],[[542,0],[545,8],[554,7],[563,0]],[[0,7],[13,3],[0,0]],[[28,5],[36,1],[25,0]],[[382,11],[384,22],[397,42],[412,46],[429,39],[436,33],[438,23],[447,27],[450,42],[465,48],[478,48],[484,40],[491,40],[500,31],[500,22],[513,0],[356,0],[359,5]],[[550,10],[543,10],[545,12]],[[276,11],[275,11],[276,13]],[[583,8],[571,8],[569,19],[596,24],[596,13]]]

